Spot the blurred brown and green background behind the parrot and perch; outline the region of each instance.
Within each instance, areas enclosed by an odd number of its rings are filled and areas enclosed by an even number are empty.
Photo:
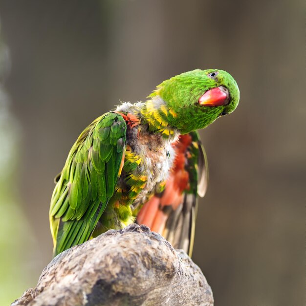
[[[221,68],[240,105],[201,132],[193,260],[216,306],[305,300],[304,1],[0,0],[0,305],[50,262],[53,178],[80,132],[162,80]]]

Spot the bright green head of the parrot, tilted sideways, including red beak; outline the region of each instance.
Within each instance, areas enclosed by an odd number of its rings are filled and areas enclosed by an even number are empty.
[[[172,113],[169,125],[185,134],[234,111],[239,96],[236,81],[226,71],[196,69],[162,82],[149,97],[165,101]]]

